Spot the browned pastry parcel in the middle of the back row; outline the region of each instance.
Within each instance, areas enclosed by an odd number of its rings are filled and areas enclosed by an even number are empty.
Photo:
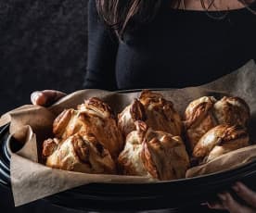
[[[159,93],[144,90],[138,100],[135,99],[119,114],[119,127],[124,137],[135,130],[136,120],[145,121],[147,126],[155,131],[169,132],[173,135],[182,133],[180,115],[173,107],[173,103]]]

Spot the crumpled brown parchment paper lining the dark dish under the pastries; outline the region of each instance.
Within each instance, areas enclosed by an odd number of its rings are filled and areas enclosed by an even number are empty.
[[[199,87],[169,89],[160,93],[173,101],[174,107],[181,114],[189,102],[203,95],[213,95],[216,98],[234,95],[243,98],[250,106],[250,141],[256,142],[256,65],[253,60],[217,81]],[[138,95],[139,92],[119,94],[102,90],[82,90],[65,96],[52,107],[23,106],[3,115],[0,126],[10,122],[10,133],[24,144],[19,152],[11,155],[11,185],[15,206],[90,182],[152,182],[146,177],[83,174],[50,169],[38,163],[41,162],[42,143],[52,136],[53,120],[64,108],[76,107],[82,104],[84,99],[96,96],[109,103],[115,113],[119,113]],[[233,169],[254,160],[255,157],[256,145],[252,145],[218,157],[214,162],[204,165],[204,168],[200,166],[189,169],[186,176]]]

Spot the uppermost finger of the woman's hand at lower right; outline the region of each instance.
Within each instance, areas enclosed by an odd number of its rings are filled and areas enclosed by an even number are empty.
[[[237,195],[241,197],[249,206],[256,208],[255,192],[251,191],[242,182],[237,182],[232,188],[237,193]]]

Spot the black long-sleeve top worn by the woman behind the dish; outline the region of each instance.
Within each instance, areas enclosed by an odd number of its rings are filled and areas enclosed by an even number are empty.
[[[247,8],[207,13],[161,6],[155,19],[119,42],[90,0],[88,24],[86,88],[196,86],[256,58],[256,15]]]

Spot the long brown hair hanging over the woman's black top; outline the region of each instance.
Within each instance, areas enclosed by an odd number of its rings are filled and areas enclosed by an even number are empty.
[[[96,0],[96,7],[100,17],[111,29],[116,31],[118,37],[122,39],[123,32],[126,31],[133,19],[136,19],[136,21],[140,23],[149,22],[154,19],[161,4],[166,1],[167,0]],[[214,4],[214,1],[215,0],[200,0],[200,3],[207,11]],[[248,5],[254,2],[253,0],[237,1],[251,11]],[[173,0],[171,3],[177,8],[186,8],[184,0]]]

